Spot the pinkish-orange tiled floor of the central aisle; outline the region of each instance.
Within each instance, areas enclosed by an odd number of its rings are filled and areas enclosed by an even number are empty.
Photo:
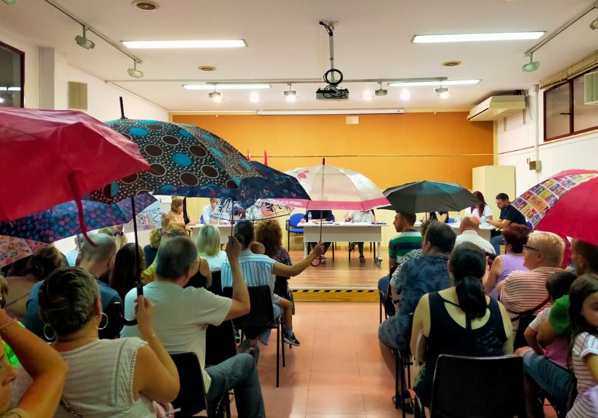
[[[377,303],[297,303],[300,347],[286,350],[276,388],[276,334],[261,348],[260,382],[269,418],[401,416],[378,343]],[[233,412],[233,416],[234,412]]]

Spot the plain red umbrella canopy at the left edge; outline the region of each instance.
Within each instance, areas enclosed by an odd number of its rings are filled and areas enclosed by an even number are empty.
[[[72,110],[0,107],[0,221],[15,220],[101,188],[149,165],[139,147]]]

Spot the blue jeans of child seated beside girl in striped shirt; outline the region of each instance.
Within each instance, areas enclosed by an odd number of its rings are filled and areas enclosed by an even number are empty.
[[[532,350],[523,355],[523,370],[557,406],[566,407],[573,374]]]

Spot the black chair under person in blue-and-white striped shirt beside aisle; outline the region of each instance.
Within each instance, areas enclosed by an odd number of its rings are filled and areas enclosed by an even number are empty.
[[[280,374],[280,345],[282,339],[282,315],[274,318],[274,309],[272,308],[272,295],[270,286],[252,286],[248,287],[249,301],[251,310],[249,314],[239,316],[233,319],[234,327],[237,330],[254,331],[260,328],[276,329],[276,387],[279,386]],[[233,288],[225,287],[223,289],[225,297],[233,297]],[[243,337],[243,333],[242,333]],[[282,343],[282,367],[285,367],[285,344]]]

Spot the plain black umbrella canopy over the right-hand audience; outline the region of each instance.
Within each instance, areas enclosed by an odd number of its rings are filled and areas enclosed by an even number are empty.
[[[469,190],[457,183],[413,182],[384,190],[392,209],[403,213],[459,211],[481,204]]]

